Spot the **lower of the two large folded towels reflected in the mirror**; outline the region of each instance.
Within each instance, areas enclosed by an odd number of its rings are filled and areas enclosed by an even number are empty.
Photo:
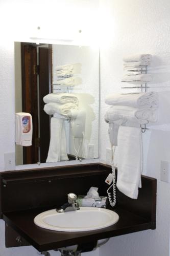
[[[53,115],[54,113],[58,113],[60,115],[67,115],[70,110],[72,109],[78,109],[78,106],[74,103],[65,103],[65,104],[59,104],[56,102],[49,102],[44,105],[44,111],[48,115]]]

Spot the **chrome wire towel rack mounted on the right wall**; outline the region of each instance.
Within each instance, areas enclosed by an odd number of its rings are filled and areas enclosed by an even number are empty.
[[[147,74],[147,67],[148,66],[139,66],[140,68],[139,69],[131,69],[131,70],[127,70],[128,72],[140,72],[140,74]],[[137,82],[138,80],[133,80],[133,81],[121,81],[121,82]],[[122,89],[134,89],[134,88],[139,88],[140,89],[140,92],[143,92],[143,89],[144,89],[144,92],[146,93],[147,92],[147,89],[150,88],[149,86],[147,86],[147,82],[142,82],[141,81],[141,84],[140,86],[127,86],[127,87],[121,87]],[[122,93],[122,94],[139,94],[139,93]],[[145,133],[145,131],[149,130],[149,128],[146,127],[146,124],[140,124],[140,127],[141,127],[141,132],[142,133]]]

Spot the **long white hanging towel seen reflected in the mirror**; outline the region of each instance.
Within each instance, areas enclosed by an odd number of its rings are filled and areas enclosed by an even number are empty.
[[[46,162],[67,161],[66,136],[63,120],[51,118],[51,137]]]

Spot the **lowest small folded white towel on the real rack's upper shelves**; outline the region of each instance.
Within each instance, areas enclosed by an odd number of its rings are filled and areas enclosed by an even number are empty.
[[[152,81],[151,74],[140,74],[140,75],[125,75],[122,78],[122,82],[129,82],[134,84],[141,84]]]

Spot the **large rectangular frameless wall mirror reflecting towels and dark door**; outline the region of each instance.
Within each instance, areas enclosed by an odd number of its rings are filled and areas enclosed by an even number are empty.
[[[33,122],[17,165],[99,157],[99,49],[15,42],[15,102]]]

